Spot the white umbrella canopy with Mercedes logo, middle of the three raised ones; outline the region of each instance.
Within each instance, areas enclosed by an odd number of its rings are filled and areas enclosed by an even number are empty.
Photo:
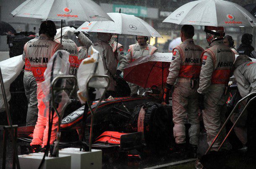
[[[124,13],[107,13],[114,22],[85,22],[77,31],[162,37],[141,18]]]

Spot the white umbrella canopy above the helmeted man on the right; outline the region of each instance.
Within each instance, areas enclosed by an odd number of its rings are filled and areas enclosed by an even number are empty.
[[[256,25],[256,19],[246,9],[224,0],[196,0],[186,3],[163,22],[216,27]]]

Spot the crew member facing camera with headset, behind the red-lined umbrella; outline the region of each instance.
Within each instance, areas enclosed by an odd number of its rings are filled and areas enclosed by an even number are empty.
[[[149,45],[147,41],[149,38],[147,36],[136,36],[138,43],[129,46],[127,55],[125,55],[127,63],[120,63],[121,68],[124,68],[128,63],[135,61],[136,59],[145,56],[152,55],[157,52],[157,48]],[[131,88],[131,95],[136,94],[139,91],[139,95],[142,95],[146,90],[136,84],[128,83]]]

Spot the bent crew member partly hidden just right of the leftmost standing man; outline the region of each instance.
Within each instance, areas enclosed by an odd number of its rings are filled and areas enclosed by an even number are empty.
[[[60,43],[60,38],[55,39],[57,43]],[[69,53],[70,75],[76,75],[76,68],[78,67],[78,47],[76,43],[71,40],[68,35],[62,35],[62,43],[64,50]]]

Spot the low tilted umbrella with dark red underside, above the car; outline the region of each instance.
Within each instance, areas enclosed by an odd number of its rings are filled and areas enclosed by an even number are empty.
[[[143,88],[162,86],[169,74],[172,53],[154,53],[136,59],[123,71],[123,78]]]

